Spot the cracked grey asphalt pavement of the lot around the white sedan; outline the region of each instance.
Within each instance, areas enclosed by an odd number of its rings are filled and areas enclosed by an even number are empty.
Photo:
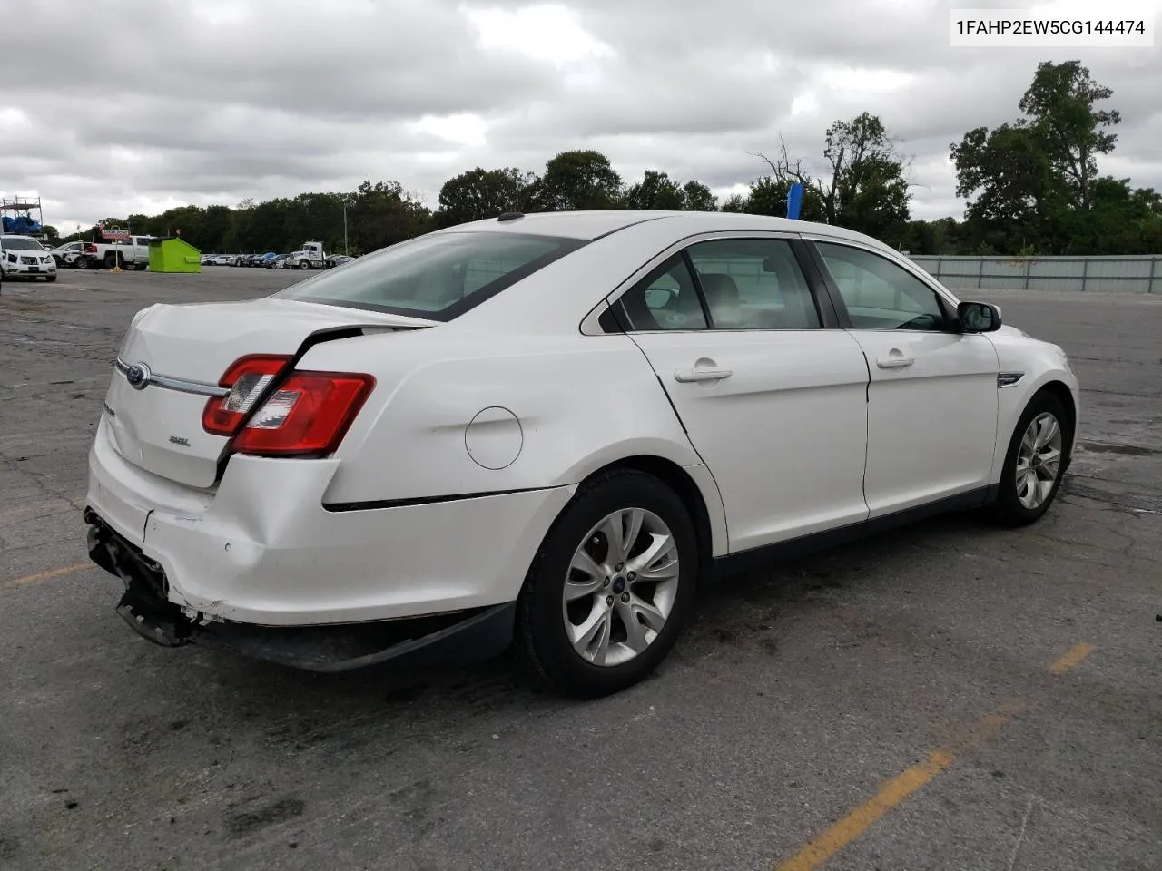
[[[505,657],[318,676],[114,614],[81,509],[129,318],[299,278],[3,283],[0,868],[1162,868],[1162,298],[978,294],[1082,381],[1039,524],[708,586],[652,679],[578,703]]]

